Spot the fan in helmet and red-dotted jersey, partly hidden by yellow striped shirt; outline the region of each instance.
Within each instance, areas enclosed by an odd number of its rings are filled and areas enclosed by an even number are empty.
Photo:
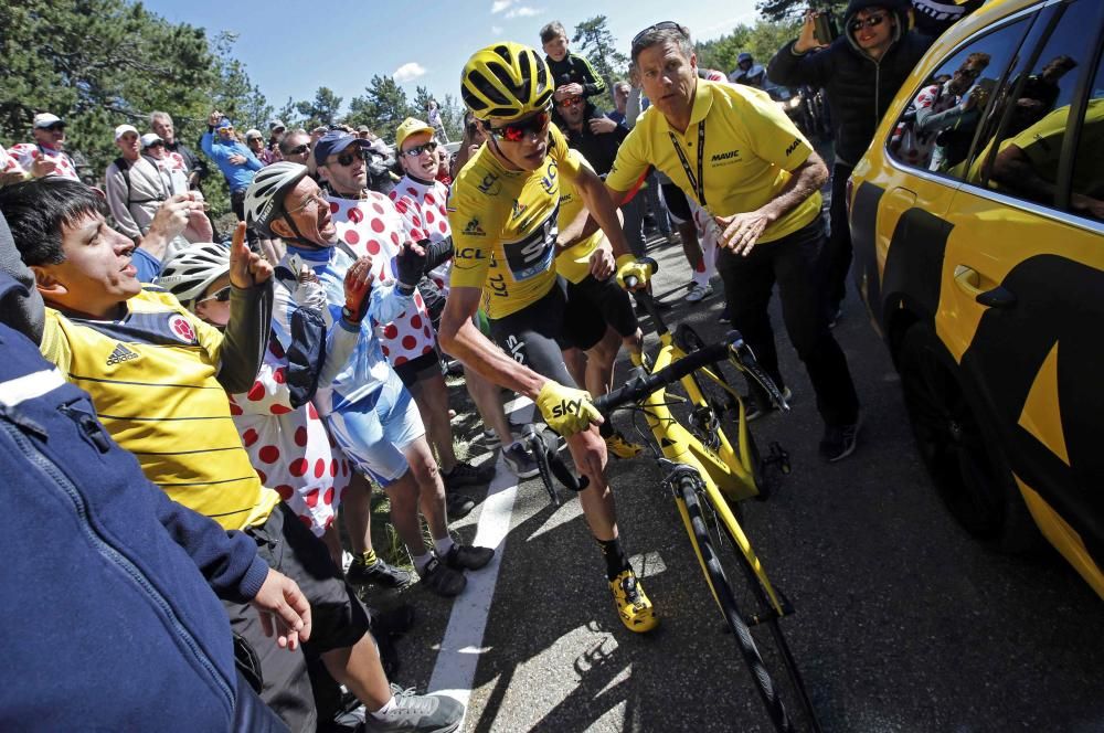
[[[181,304],[208,323],[224,328],[230,321],[230,251],[223,245],[195,244],[179,251],[166,261],[162,277],[172,283],[170,289]],[[319,311],[325,307],[320,286],[315,284],[317,295],[310,284],[304,286],[299,299]],[[231,395],[230,413],[261,482],[279,493],[340,563],[341,542],[333,521],[351,471],[315,405],[293,406],[287,373],[287,352],[269,338],[256,381],[248,392]]]

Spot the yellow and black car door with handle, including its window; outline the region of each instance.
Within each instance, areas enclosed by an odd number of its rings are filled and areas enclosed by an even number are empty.
[[[1040,529],[1104,595],[1104,3],[1040,21],[958,171],[937,329]]]

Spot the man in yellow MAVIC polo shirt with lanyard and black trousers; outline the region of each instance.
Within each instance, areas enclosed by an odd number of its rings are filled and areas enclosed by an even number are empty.
[[[617,152],[606,178],[611,196],[623,201],[652,164],[713,215],[732,323],[783,387],[767,314],[778,284],[786,331],[825,421],[820,455],[846,458],[856,447],[859,401],[814,277],[825,245],[819,189],[828,169],[764,92],[698,78],[687,28],[651,25],[633,39],[631,54],[654,109]],[[766,404],[764,394],[753,391],[752,399]]]

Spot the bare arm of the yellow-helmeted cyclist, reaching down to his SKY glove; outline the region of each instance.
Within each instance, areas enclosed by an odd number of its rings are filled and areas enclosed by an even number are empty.
[[[449,289],[437,330],[440,348],[484,379],[535,400],[548,379],[508,357],[471,322],[481,297],[480,288]]]

